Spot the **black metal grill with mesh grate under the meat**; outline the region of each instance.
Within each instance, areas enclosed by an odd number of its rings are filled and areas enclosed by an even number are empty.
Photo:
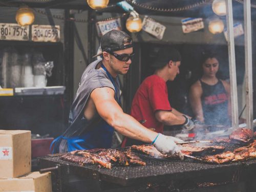
[[[217,145],[210,143],[210,145]],[[240,147],[238,144],[218,144],[225,146],[225,151],[232,151]],[[122,148],[121,150],[126,150]],[[62,167],[61,174],[75,174],[82,178],[115,183],[122,186],[141,185],[142,183],[163,183],[172,180],[193,180],[195,182],[238,182],[243,179],[255,178],[256,160],[232,162],[228,164],[209,164],[192,159],[167,160],[156,159],[136,153],[146,166],[113,166],[112,169],[99,168],[97,165],[80,166],[63,161],[60,154],[38,158],[38,165],[42,168]],[[46,169],[48,170],[48,169]],[[61,176],[63,177],[63,176]],[[65,179],[64,179],[65,180]]]

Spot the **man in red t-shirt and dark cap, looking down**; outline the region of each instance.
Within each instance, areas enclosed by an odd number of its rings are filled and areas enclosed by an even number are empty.
[[[181,56],[174,48],[162,47],[158,51],[154,75],[147,77],[137,90],[133,102],[131,115],[138,121],[144,120],[145,127],[153,127],[157,133],[163,133],[163,126],[183,125],[187,130],[194,128],[194,122],[184,114],[170,106],[166,81],[173,81],[179,74]],[[152,129],[152,128],[151,128]],[[124,138],[122,146],[142,144],[130,138]]]

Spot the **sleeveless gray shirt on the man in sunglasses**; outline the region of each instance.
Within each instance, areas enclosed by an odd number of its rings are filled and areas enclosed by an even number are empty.
[[[109,87],[115,91],[115,87],[106,72],[102,69],[95,69],[99,62],[101,63],[101,59],[92,62],[82,74],[79,88],[71,106],[69,118],[70,126],[65,133],[63,133],[64,137],[82,135],[93,129],[93,127],[97,126],[97,124],[103,120],[99,114],[96,114],[90,120],[87,120],[83,116],[84,107],[94,89]],[[99,65],[101,65],[100,63]],[[115,98],[118,102],[120,97],[120,84],[118,78],[113,78],[113,80],[117,89]],[[65,153],[67,151],[67,140],[62,140],[59,146],[59,153]]]

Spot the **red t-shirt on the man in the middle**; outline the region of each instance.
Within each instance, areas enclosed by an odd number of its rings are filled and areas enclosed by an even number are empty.
[[[155,117],[157,110],[172,111],[168,101],[167,86],[164,79],[157,75],[147,77],[137,90],[133,102],[131,115],[139,120],[146,120],[143,125],[153,127],[157,133],[163,133],[163,123]]]

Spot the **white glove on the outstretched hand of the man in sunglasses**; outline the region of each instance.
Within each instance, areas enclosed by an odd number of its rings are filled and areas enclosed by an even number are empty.
[[[165,136],[159,134],[157,139],[154,142],[154,146],[157,148],[159,152],[162,154],[171,154],[174,156],[179,156],[181,160],[184,159],[183,154],[180,151],[179,146],[176,145],[175,141],[182,142],[182,140],[177,139],[171,136]]]

